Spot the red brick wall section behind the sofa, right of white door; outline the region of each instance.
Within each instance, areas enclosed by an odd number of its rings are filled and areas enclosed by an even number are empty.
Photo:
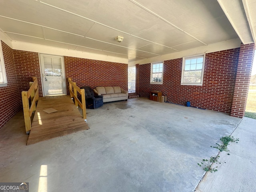
[[[66,78],[78,87],[120,86],[128,90],[128,64],[64,56]],[[66,82],[68,91],[68,82]]]

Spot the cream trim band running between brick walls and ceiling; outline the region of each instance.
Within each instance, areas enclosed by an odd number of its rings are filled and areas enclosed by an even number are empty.
[[[60,55],[60,56],[70,56],[70,57],[76,57],[76,58],[86,58],[86,59],[93,59],[93,60],[102,60],[107,62],[123,63],[123,64],[128,64],[128,67],[133,67],[136,64],[147,64],[152,62],[158,62],[161,60],[166,61],[166,60],[172,60],[176,58],[182,58],[184,56],[189,56],[189,55],[228,50],[232,48],[238,48],[241,45],[241,40],[239,38],[236,38],[229,41],[210,44],[207,46],[200,46],[198,48],[175,52],[172,54],[166,54],[166,55],[157,56],[154,58],[128,62],[128,59],[125,59],[125,58],[93,54],[93,53],[81,52],[76,50],[68,50],[64,48],[56,48],[56,47],[44,46],[44,45],[32,44],[32,43],[26,43],[26,42],[10,41],[8,36],[4,35],[4,33],[2,33],[1,31],[0,31],[0,38],[2,38],[2,41],[5,42],[8,46],[10,46],[14,50],[23,50],[23,51],[38,52],[43,54],[54,54],[54,55]]]

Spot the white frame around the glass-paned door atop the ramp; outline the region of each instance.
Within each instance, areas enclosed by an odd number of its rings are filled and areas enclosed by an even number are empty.
[[[45,96],[45,94],[44,94],[44,80],[43,80],[43,78],[44,78],[44,70],[42,69],[41,56],[49,56],[49,57],[57,56],[57,57],[60,57],[60,60],[61,60],[61,67],[62,67],[62,85],[63,85],[64,93],[63,93],[63,94],[55,94],[55,95],[47,95],[47,96],[67,95],[64,57],[61,56],[61,55],[52,55],[52,54],[44,54],[44,53],[38,53],[38,55],[39,55],[40,76],[41,76],[41,82],[42,82],[42,92],[43,92],[43,96]]]

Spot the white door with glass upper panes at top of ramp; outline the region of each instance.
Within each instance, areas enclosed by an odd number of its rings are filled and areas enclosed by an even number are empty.
[[[66,95],[66,80],[62,56],[40,54],[44,96]]]

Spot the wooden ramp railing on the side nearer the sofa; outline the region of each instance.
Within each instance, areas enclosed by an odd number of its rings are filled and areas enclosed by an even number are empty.
[[[85,94],[84,94],[84,89],[80,89],[78,86],[76,86],[75,82],[72,82],[71,78],[68,78],[68,83],[69,83],[69,94],[70,97],[74,97],[75,99],[75,105],[78,107],[78,105],[81,107],[82,111],[83,111],[83,118],[84,121],[86,120],[86,105],[85,105]],[[77,92],[81,94],[81,100],[82,102],[80,102],[80,100],[77,98]]]

